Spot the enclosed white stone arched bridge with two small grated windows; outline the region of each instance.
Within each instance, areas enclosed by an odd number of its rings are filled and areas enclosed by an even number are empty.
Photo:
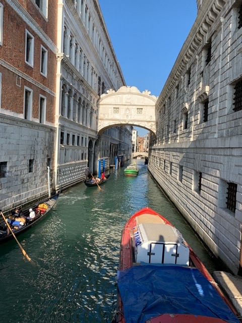
[[[122,86],[102,94],[99,101],[98,133],[115,126],[145,128],[156,135],[155,95],[142,93],[135,86]]]

